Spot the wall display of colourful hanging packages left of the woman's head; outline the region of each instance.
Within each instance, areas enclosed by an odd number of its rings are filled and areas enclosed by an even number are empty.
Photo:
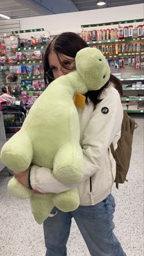
[[[29,106],[45,90],[43,53],[49,40],[44,29],[13,31],[9,38],[0,40],[0,73],[5,75],[1,87],[4,92],[15,92],[20,86],[21,97]]]

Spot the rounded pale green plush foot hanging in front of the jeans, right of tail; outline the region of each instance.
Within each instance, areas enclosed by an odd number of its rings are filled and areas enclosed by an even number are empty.
[[[74,211],[79,207],[79,192],[77,188],[55,194],[53,199],[54,205],[65,213]]]

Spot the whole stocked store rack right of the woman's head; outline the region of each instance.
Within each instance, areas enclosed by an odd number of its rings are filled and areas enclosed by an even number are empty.
[[[144,112],[143,19],[81,25],[81,37],[106,56],[111,73],[123,81],[124,111]]]

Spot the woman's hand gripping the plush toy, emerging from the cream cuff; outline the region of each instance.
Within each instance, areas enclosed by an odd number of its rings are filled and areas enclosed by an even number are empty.
[[[29,171],[30,170],[31,170],[31,166],[29,166],[29,168],[27,170],[25,170],[25,172],[13,172],[14,177],[16,178],[16,180],[18,180],[19,183],[26,186],[27,188],[29,188],[28,178],[29,178]],[[43,193],[41,193],[37,190],[34,190],[34,189],[32,189],[31,192],[33,194],[43,195]]]

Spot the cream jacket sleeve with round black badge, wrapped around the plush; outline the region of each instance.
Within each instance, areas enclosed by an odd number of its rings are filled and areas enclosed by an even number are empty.
[[[82,182],[101,169],[104,154],[121,130],[123,108],[120,95],[114,88],[107,88],[103,100],[98,103],[82,135],[82,152],[84,155],[85,172]],[[118,136],[117,141],[120,136]],[[43,175],[41,175],[43,172]],[[51,170],[45,167],[32,166],[31,186],[40,192],[59,193],[76,186],[64,185],[56,180]]]

